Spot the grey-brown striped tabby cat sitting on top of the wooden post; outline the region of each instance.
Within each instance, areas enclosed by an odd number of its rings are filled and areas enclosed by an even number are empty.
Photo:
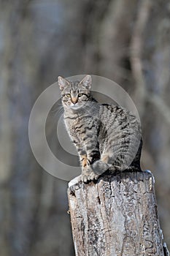
[[[91,94],[92,78],[58,77],[67,132],[82,165],[81,180],[93,181],[106,170],[141,170],[139,120],[118,105],[100,104]]]

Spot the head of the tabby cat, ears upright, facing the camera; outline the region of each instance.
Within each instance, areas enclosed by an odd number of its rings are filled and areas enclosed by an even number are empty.
[[[78,110],[88,104],[90,100],[90,88],[92,79],[86,75],[81,81],[69,81],[58,76],[58,86],[61,89],[61,97],[64,108]]]

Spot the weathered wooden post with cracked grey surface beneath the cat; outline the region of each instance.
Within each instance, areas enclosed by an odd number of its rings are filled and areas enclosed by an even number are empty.
[[[149,171],[102,176],[68,189],[76,256],[164,256]]]

